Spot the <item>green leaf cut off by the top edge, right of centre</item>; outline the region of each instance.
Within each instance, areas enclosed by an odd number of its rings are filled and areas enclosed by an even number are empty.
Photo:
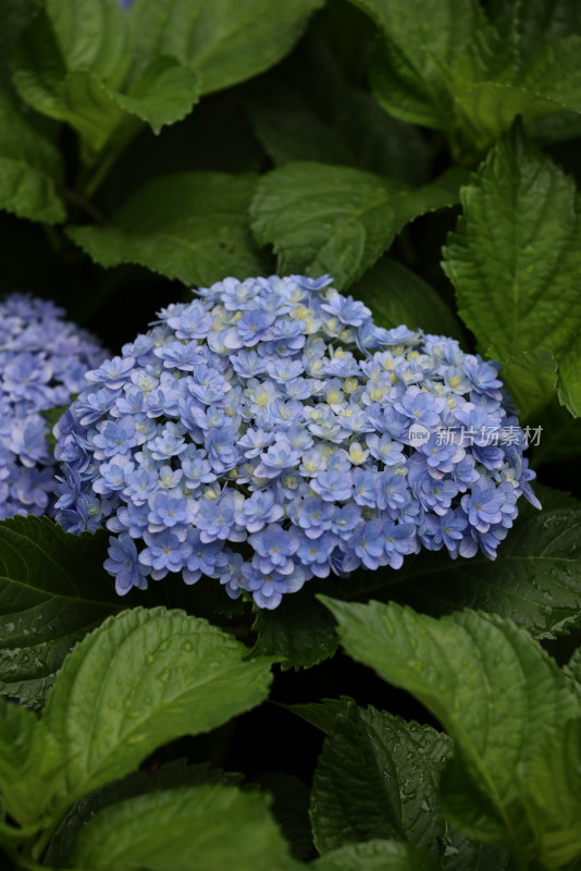
[[[515,30],[500,38],[471,0],[413,0],[411,8],[403,0],[354,2],[380,26],[370,77],[383,108],[406,121],[446,131],[459,158],[465,158],[462,150],[470,158],[474,146],[484,148],[480,106],[472,100],[467,111],[461,100],[470,100],[472,88],[482,82],[511,79],[518,60]],[[493,135],[497,132],[498,122]]]

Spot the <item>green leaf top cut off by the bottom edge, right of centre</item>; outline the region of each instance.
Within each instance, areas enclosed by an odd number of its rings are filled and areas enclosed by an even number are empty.
[[[436,871],[440,866],[411,844],[368,841],[348,844],[312,863],[313,871]]]

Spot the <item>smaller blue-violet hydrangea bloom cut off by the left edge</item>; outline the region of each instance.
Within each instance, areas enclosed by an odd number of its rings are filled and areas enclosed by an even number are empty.
[[[53,514],[55,463],[42,412],[69,405],[104,358],[51,302],[0,303],[0,518]]]

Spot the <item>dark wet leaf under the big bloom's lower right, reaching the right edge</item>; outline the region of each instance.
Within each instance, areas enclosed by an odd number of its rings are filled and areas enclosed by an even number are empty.
[[[558,490],[535,489],[543,511],[519,505],[494,562],[482,554],[450,560],[427,551],[399,572],[346,580],[343,597],[395,600],[434,616],[481,609],[511,617],[536,638],[570,631],[581,623],[581,505]]]

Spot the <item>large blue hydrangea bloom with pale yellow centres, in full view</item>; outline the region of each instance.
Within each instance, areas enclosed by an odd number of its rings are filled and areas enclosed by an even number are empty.
[[[519,439],[491,438],[518,425],[498,366],[376,327],[331,281],[225,279],[87,375],[55,429],[58,519],[107,525],[120,593],[205,575],[273,609],[422,547],[494,559],[518,496],[539,505]]]

